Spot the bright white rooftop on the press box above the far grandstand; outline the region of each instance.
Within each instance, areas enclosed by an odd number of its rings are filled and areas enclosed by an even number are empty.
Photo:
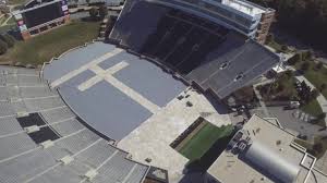
[[[230,8],[233,8],[240,12],[249,14],[251,16],[266,12],[264,8],[254,5],[247,1],[242,1],[242,0],[221,0],[221,3]]]

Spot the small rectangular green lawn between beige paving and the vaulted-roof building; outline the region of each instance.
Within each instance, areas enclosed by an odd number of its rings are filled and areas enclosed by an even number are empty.
[[[199,130],[180,150],[190,161],[199,159],[219,138],[229,136],[232,133],[232,126],[217,127],[207,123]]]

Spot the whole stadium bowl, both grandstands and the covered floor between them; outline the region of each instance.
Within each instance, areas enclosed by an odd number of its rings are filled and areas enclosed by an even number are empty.
[[[229,125],[222,99],[279,57],[172,2],[126,0],[105,41],[40,70],[0,68],[0,182],[183,181],[172,144]]]

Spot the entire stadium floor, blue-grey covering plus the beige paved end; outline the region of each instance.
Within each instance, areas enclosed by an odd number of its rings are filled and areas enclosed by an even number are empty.
[[[85,124],[134,160],[167,170],[173,183],[189,160],[170,144],[202,115],[217,126],[231,123],[218,101],[110,44],[70,50],[46,64],[41,75]]]

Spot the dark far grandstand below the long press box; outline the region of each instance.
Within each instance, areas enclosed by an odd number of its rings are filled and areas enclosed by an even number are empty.
[[[126,1],[109,40],[168,65],[220,99],[279,62],[262,45],[209,19],[142,0]]]

